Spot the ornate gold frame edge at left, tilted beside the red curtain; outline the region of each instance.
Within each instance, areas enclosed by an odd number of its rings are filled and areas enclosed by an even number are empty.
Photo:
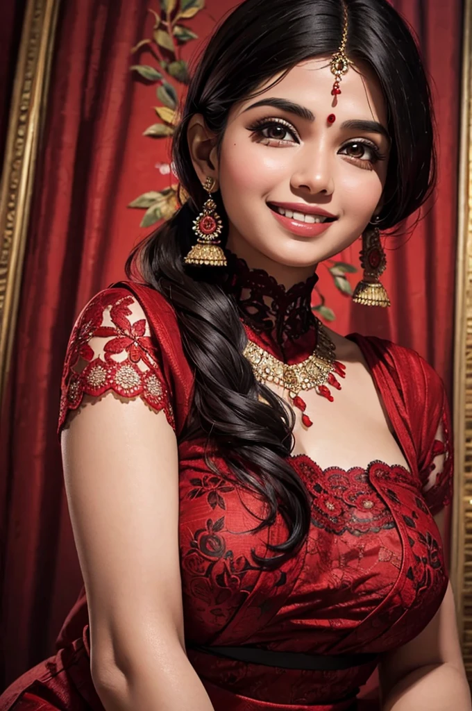
[[[0,188],[0,403],[9,373],[60,0],[28,0]]]

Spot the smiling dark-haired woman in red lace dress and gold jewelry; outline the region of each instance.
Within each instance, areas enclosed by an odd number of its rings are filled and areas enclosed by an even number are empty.
[[[188,193],[80,315],[59,431],[85,591],[0,709],[471,709],[441,544],[444,386],[311,310],[434,186],[430,96],[385,0],[246,0],[173,143]],[[205,188],[205,189],[203,189]],[[195,233],[198,240],[195,240]]]

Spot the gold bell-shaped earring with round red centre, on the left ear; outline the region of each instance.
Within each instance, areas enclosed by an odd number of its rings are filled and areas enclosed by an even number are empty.
[[[216,212],[216,203],[211,197],[215,179],[208,176],[203,188],[208,192],[208,200],[203,210],[193,220],[193,231],[198,235],[197,243],[193,245],[183,260],[186,264],[208,264],[212,267],[226,267],[225,252],[223,252],[218,237],[222,232],[222,221]]]

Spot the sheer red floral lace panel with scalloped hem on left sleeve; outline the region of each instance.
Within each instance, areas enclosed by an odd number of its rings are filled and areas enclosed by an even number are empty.
[[[127,289],[105,289],[85,306],[70,336],[61,383],[58,433],[68,412],[84,395],[141,397],[152,410],[164,410],[175,430],[159,344],[137,299]]]

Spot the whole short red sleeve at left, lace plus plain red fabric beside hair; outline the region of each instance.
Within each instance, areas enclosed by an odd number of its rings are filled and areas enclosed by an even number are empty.
[[[178,383],[190,379],[186,374],[171,304],[146,284],[111,284],[85,304],[70,333],[58,432],[85,395],[98,398],[109,391],[124,400],[141,397],[151,409],[165,410],[175,429],[173,399],[176,387],[183,387]],[[186,403],[186,391],[178,395],[179,403]]]

